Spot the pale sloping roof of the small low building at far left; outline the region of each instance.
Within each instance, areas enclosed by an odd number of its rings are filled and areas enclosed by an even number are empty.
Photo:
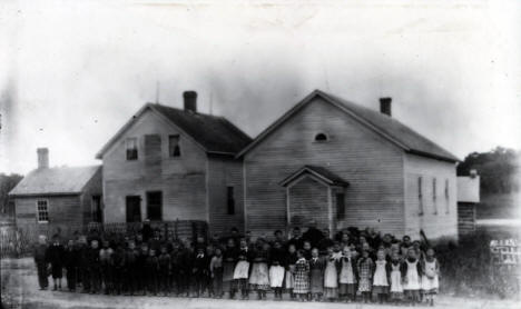
[[[36,169],[12,189],[10,196],[79,195],[101,166]]]

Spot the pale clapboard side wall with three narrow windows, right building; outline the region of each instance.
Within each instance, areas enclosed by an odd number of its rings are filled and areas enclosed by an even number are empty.
[[[405,232],[419,238],[423,229],[427,238],[458,236],[455,165],[415,154],[404,154],[405,165]],[[419,182],[422,177],[423,215],[420,212]],[[436,179],[436,198],[433,198]],[[449,180],[449,199],[445,198]]]

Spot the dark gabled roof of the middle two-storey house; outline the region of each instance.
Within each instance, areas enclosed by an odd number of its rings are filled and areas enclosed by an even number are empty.
[[[147,103],[104,146],[96,158],[101,159],[105,152],[146,110],[151,110],[170,121],[208,153],[235,156],[252,141],[252,138],[224,117]]]

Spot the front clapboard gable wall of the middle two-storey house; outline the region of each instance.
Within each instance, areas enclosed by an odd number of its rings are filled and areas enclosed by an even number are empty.
[[[180,136],[180,157],[169,157],[169,134]],[[148,156],[145,136],[156,136],[148,140],[154,148]],[[138,138],[138,160],[126,160],[128,137]],[[146,191],[163,191],[164,220],[206,220],[206,153],[189,137],[154,112],[145,112],[104,156],[106,222],[126,220],[126,196],[141,197],[145,219]]]

